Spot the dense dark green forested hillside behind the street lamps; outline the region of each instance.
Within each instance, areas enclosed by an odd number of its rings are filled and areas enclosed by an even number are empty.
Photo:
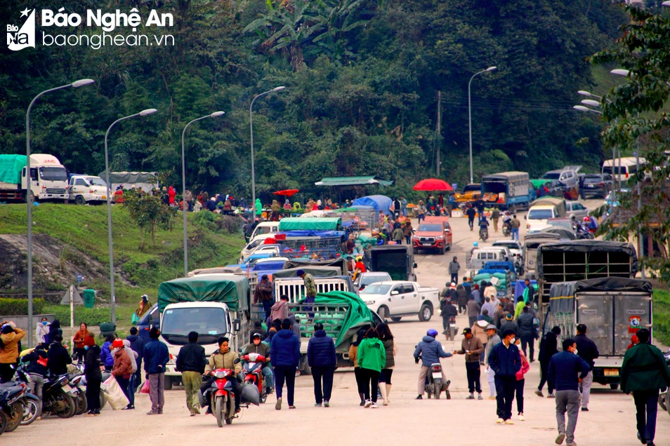
[[[107,126],[155,107],[159,114],[112,131],[112,169],[157,170],[178,184],[183,126],[222,109],[223,118],[190,128],[188,183],[249,197],[249,103],[284,85],[254,105],[256,180],[265,198],[276,189],[317,191],[313,182],[329,175],[379,175],[395,181],[389,193],[407,193],[415,180],[435,175],[438,150],[440,176],[462,184],[468,80],[492,65],[495,72],[472,83],[475,177],[595,166],[603,158],[600,127],[572,105],[581,99],[577,90],[593,87],[587,58],[611,45],[625,20],[619,6],[600,0],[64,0],[58,6],[173,13],[166,32],[175,46],[94,50],[44,47],[38,39],[37,48],[2,50],[0,153],[25,151],[25,109],[34,95],[90,77],[95,86],[53,93],[34,107],[34,152],[55,154],[72,172],[98,173]],[[1,18],[16,22],[26,7],[54,6],[7,0]]]

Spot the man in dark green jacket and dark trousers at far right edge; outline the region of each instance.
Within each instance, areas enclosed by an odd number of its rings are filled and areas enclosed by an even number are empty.
[[[621,388],[633,393],[637,410],[638,440],[654,446],[659,389],[670,387],[670,372],[657,347],[649,344],[650,332],[641,328],[637,332],[638,344],[626,351],[621,367]]]

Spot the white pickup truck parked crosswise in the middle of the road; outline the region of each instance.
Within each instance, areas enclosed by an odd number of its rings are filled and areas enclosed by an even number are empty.
[[[398,322],[404,316],[419,315],[421,322],[431,320],[440,308],[437,288],[421,287],[416,282],[384,281],[367,285],[360,291],[360,298],[369,309],[382,319]]]

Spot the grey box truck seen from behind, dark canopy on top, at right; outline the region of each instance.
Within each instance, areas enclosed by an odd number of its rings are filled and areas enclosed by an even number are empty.
[[[651,283],[622,277],[553,283],[544,332],[558,325],[561,339],[567,339],[577,333],[578,324],[589,327],[600,353],[593,381],[618,388],[631,337],[640,328],[652,330]]]

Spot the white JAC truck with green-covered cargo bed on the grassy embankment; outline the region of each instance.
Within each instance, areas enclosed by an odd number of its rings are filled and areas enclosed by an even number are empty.
[[[25,155],[0,155],[0,200],[65,201],[67,193],[67,170],[53,155],[32,154],[30,156],[30,181],[26,175]]]

